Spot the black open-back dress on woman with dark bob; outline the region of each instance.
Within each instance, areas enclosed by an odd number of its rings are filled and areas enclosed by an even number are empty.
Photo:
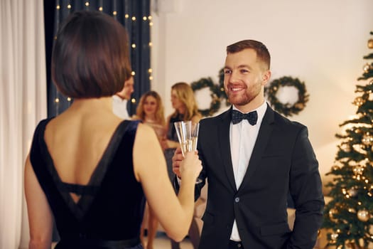
[[[55,248],[142,248],[145,198],[132,161],[139,121],[119,124],[87,186],[60,180],[44,140],[49,121],[36,128],[30,159],[61,238]],[[80,195],[80,200],[75,203],[70,193]]]

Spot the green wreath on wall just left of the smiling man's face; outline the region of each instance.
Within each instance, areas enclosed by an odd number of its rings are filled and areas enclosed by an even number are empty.
[[[193,92],[200,90],[202,88],[210,88],[210,96],[211,96],[211,103],[209,109],[200,110],[202,116],[212,116],[215,112],[217,112],[220,108],[220,88],[218,85],[215,85],[214,82],[210,77],[208,78],[201,78],[198,81],[195,81],[190,84],[193,89]]]

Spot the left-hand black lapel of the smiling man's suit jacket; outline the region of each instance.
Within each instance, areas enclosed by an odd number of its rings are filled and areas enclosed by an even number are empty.
[[[230,153],[230,140],[229,140],[229,127],[232,120],[232,107],[225,113],[222,114],[221,122],[217,127],[218,143],[220,145],[220,154],[222,155],[223,164],[225,167],[225,173],[229,184],[232,186],[234,191],[237,190],[236,183],[234,181],[234,173],[232,166],[232,155]]]

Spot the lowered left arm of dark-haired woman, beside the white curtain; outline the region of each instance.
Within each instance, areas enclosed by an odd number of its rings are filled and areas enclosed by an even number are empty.
[[[40,187],[28,156],[25,164],[25,195],[30,227],[29,249],[50,249],[52,245],[52,211]]]

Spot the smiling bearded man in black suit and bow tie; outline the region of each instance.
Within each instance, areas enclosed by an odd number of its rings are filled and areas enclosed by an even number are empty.
[[[208,181],[201,249],[315,245],[324,207],[318,161],[307,127],[279,115],[264,99],[270,60],[259,41],[227,46],[224,86],[232,107],[200,121],[204,181],[196,184],[196,197]],[[182,159],[178,149],[173,157],[177,175]],[[287,222],[288,194],[296,208],[293,231]]]

